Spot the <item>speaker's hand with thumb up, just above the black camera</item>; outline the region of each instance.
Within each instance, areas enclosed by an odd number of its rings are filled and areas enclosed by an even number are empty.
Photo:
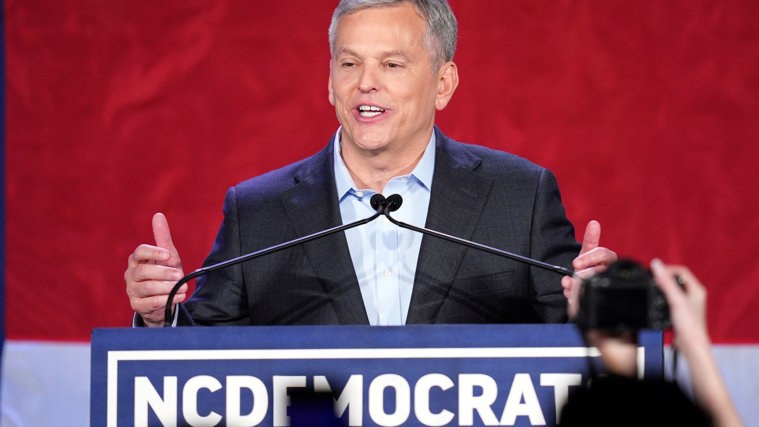
[[[572,267],[575,267],[575,274],[583,279],[606,270],[609,264],[617,260],[614,251],[598,245],[600,239],[601,224],[598,221],[587,223],[580,255],[575,258],[575,261],[572,261]],[[562,279],[562,286],[564,287],[564,296],[567,297],[569,302],[568,315],[572,318],[577,313],[577,298],[575,294],[580,290],[580,280],[565,276]]]

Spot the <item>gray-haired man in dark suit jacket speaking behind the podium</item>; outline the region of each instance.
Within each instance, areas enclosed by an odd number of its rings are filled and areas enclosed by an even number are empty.
[[[342,0],[328,83],[340,128],[312,157],[229,188],[203,265],[370,217],[376,193],[401,195],[393,216],[414,226],[587,273],[614,261],[598,247],[598,223],[575,241],[549,170],[434,125],[458,85],[456,33],[446,0]],[[287,143],[287,129],[260,141]],[[183,276],[161,213],[153,233],[156,245],[140,245],[124,274],[136,326],[162,326]],[[199,277],[181,304],[183,285],[173,324],[561,322],[570,283],[380,217]]]

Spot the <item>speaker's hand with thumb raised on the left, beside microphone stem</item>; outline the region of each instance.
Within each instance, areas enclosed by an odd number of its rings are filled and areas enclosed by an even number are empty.
[[[129,255],[124,280],[132,309],[142,316],[146,326],[162,327],[168,293],[184,273],[163,213],[153,216],[153,236],[155,246],[139,245]],[[179,288],[172,304],[184,301],[185,293],[187,283]]]

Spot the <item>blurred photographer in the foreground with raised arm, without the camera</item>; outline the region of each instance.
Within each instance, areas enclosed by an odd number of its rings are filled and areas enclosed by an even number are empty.
[[[695,403],[677,384],[635,378],[637,331],[585,332],[596,346],[609,375],[594,377],[587,389],[569,397],[562,425],[742,425],[716,367],[707,332],[706,289],[687,267],[651,261],[657,286],[669,303],[673,345],[688,360]],[[684,289],[674,277],[679,277]],[[579,284],[578,284],[579,285]],[[573,286],[568,312],[578,312],[580,286]]]

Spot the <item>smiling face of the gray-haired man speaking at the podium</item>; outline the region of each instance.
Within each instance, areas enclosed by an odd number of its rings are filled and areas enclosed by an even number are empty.
[[[410,4],[340,18],[329,103],[344,140],[381,152],[427,134],[435,117],[437,79],[422,46],[425,30]]]

